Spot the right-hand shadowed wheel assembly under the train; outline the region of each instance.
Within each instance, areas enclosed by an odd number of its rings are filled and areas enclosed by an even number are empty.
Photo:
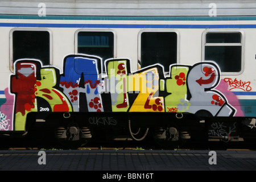
[[[190,138],[187,131],[181,132],[177,130],[176,127],[168,127],[167,129],[164,129],[163,127],[156,128],[153,137],[159,146],[168,149],[179,148]]]

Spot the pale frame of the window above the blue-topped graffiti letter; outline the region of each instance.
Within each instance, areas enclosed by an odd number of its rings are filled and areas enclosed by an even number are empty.
[[[83,54],[83,55],[86,55],[85,53],[78,53],[78,34],[79,32],[112,32],[113,33],[113,36],[114,36],[114,40],[113,40],[113,43],[114,43],[114,48],[113,48],[113,51],[114,51],[114,57],[112,58],[117,58],[117,34],[114,30],[112,29],[95,29],[95,28],[80,28],[79,30],[76,30],[75,32],[75,55],[78,55],[78,54]],[[92,56],[92,55],[90,55]],[[95,55],[98,57],[98,55]],[[104,61],[105,60],[102,60],[102,57],[101,58],[101,69],[103,69],[105,67],[105,63]],[[108,60],[108,59],[106,59]],[[101,70],[101,73],[106,73],[106,71],[104,70]]]

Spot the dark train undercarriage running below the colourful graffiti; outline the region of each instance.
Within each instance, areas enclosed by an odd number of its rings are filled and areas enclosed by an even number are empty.
[[[26,131],[2,133],[10,136],[24,136],[36,118],[54,130],[55,138],[64,146],[84,146],[93,137],[94,130],[104,132],[106,138],[126,138],[142,141],[152,134],[162,147],[181,145],[189,139],[236,142],[243,140],[247,132],[255,133],[255,119],[243,117],[212,117],[208,113],[30,113]],[[200,133],[200,134],[199,134]],[[199,135],[198,135],[199,134]],[[196,137],[194,137],[196,136]],[[249,135],[251,137],[251,135]],[[253,136],[254,137],[254,136]],[[256,138],[256,136],[254,137]],[[197,138],[198,139],[198,138]]]

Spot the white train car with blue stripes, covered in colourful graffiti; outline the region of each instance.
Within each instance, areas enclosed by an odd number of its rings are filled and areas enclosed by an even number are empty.
[[[169,146],[256,132],[256,1],[1,1],[0,32],[2,135],[43,123],[65,144],[97,130]]]

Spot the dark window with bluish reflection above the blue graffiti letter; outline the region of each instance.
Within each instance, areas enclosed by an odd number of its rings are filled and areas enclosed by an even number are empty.
[[[85,53],[102,58],[102,61],[115,57],[114,32],[112,31],[79,31],[77,36],[76,53]],[[104,64],[103,71],[105,71]]]

